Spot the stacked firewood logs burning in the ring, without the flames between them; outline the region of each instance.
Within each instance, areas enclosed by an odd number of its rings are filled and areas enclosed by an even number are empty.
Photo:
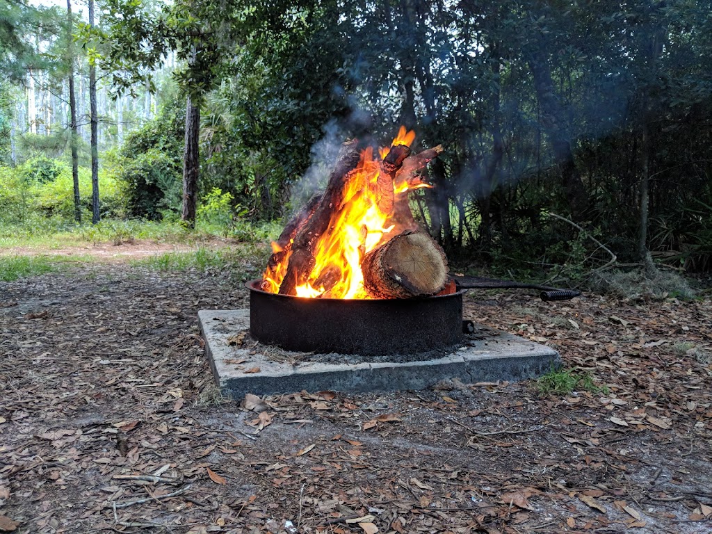
[[[422,184],[419,172],[442,150],[437,146],[412,155],[407,145],[394,145],[381,161],[365,163],[357,141],[345,142],[325,191],[310,199],[273,244],[263,289],[276,293],[278,288],[281,295],[295,295],[297,286],[313,279],[320,238],[333,231],[335,214],[347,209],[352,179],[371,164],[372,176],[377,178],[368,187],[374,189],[372,198],[387,214],[387,226],[392,229],[371,251],[360,249],[365,295],[410,298],[439,293],[448,281],[447,258],[415,221],[407,189]],[[320,273],[317,282],[324,289],[323,296],[331,296],[333,278],[328,272]]]

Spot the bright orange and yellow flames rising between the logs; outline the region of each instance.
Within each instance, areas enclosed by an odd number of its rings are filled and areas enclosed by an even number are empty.
[[[415,132],[401,126],[391,146],[412,145]],[[386,157],[390,147],[380,148],[380,159]],[[320,236],[315,247],[315,266],[308,281],[296,287],[296,294],[304,298],[369,298],[363,287],[361,261],[372,251],[393,225],[392,214],[379,209],[375,184],[380,172],[379,159],[372,148],[361,152],[355,172],[346,184],[342,206],[334,206],[329,231]],[[396,198],[409,189],[430,187],[421,182],[394,184]],[[274,253],[281,252],[278,244],[272,244]],[[263,276],[263,289],[278,293],[286,274],[291,250],[287,249],[276,268]]]

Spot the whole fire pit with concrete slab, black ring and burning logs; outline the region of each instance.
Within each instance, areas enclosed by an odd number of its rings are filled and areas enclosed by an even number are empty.
[[[549,347],[506,333],[470,324],[464,334],[464,290],[407,196],[430,187],[421,170],[443,148],[412,155],[414,137],[402,127],[378,153],[345,142],[324,192],[289,221],[263,277],[247,284],[249,311],[199,312],[226,393],[513,380],[558,360]]]

